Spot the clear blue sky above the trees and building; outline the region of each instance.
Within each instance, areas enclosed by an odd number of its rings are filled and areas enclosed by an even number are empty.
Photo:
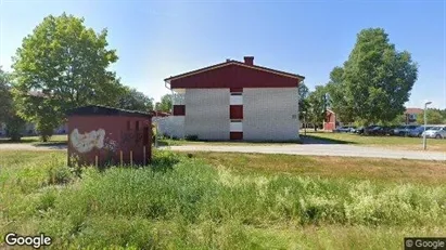
[[[446,108],[446,0],[0,0],[3,69],[43,17],[63,12],[107,28],[119,56],[111,69],[155,101],[169,93],[165,78],[245,55],[305,76],[311,90],[347,60],[361,29],[381,27],[419,65],[406,106]]]

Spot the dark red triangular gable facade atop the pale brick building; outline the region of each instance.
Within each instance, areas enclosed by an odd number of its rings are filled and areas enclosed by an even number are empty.
[[[227,63],[216,66],[209,70],[190,74],[171,79],[171,89],[188,88],[286,88],[297,87],[300,79],[291,75],[284,75],[262,69],[256,66],[243,66]]]

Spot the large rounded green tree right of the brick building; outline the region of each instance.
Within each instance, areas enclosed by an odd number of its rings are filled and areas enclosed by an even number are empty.
[[[364,29],[343,67],[330,74],[332,108],[365,126],[392,121],[405,110],[417,76],[410,53],[397,51],[384,29]]]

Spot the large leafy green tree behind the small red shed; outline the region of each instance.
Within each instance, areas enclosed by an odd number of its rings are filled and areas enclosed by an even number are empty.
[[[36,123],[46,141],[69,108],[113,105],[124,89],[107,67],[117,61],[107,50],[107,30],[94,32],[84,18],[48,16],[24,38],[13,58],[18,115]]]

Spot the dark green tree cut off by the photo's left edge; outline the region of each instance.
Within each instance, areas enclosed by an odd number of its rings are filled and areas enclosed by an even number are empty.
[[[0,67],[0,123],[7,124],[7,136],[20,141],[25,121],[17,116],[10,84],[10,75]]]

